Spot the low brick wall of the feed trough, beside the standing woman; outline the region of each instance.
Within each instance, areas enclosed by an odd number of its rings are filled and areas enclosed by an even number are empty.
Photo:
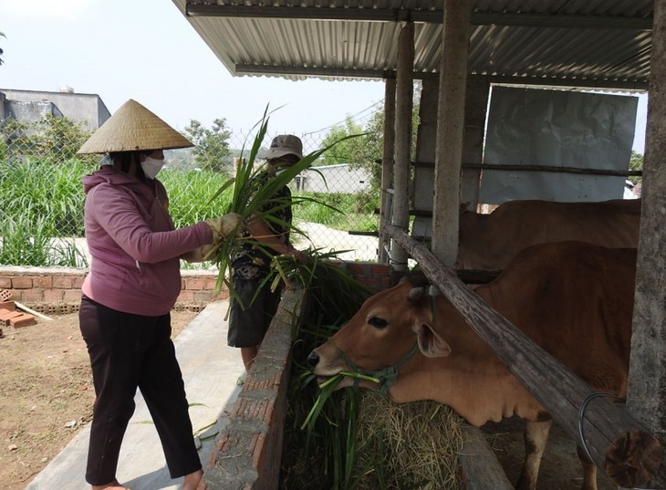
[[[389,266],[363,262],[335,263],[373,291],[390,287]],[[307,294],[286,291],[257,357],[217,436],[199,490],[276,490],[282,462],[288,356],[293,318],[300,321]]]

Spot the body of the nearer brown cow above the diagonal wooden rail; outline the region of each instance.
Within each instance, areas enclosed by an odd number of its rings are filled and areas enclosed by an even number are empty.
[[[636,249],[552,243],[527,248],[476,291],[591,386],[623,395],[635,275]]]

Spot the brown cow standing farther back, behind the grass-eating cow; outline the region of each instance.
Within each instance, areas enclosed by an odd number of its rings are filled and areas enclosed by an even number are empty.
[[[503,270],[530,245],[578,240],[613,248],[639,245],[640,199],[600,203],[508,201],[491,214],[460,215],[458,269]]]

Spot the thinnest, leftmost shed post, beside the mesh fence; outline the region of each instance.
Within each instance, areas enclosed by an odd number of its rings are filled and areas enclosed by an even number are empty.
[[[395,153],[395,78],[384,80],[384,148],[381,159],[381,190],[380,190],[380,249],[378,261],[389,263],[390,246],[384,224],[392,223],[393,210],[393,155]]]

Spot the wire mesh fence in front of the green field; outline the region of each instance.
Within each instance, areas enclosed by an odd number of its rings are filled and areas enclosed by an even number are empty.
[[[165,151],[167,164],[159,177],[177,227],[224,213],[229,197],[223,193],[212,200],[213,195],[234,175],[235,162],[249,153],[255,138],[251,130],[219,128],[185,134],[196,146]],[[77,121],[51,115],[29,122],[0,120],[0,265],[88,266],[81,178],[103,158],[76,155],[89,135]],[[264,146],[274,136],[266,135]],[[327,135],[298,136],[308,153],[325,146]],[[379,199],[368,170],[349,159],[334,164],[328,159],[290,186],[292,193],[328,204],[295,206],[295,224],[306,235],[294,237],[298,247],[335,250],[345,260],[377,259],[378,239],[372,234],[379,229]]]

